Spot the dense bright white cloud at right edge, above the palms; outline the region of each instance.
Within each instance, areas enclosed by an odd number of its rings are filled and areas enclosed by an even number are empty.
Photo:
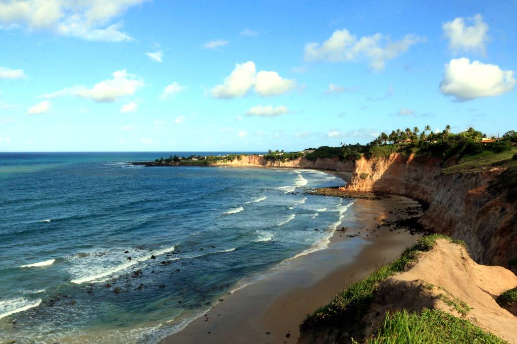
[[[468,58],[452,59],[445,65],[440,91],[459,101],[499,96],[515,86],[515,73],[496,65],[483,64]]]

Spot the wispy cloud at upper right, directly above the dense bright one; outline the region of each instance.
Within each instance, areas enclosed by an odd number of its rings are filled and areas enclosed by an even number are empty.
[[[472,23],[468,26],[465,22]],[[460,51],[475,52],[484,55],[488,37],[488,25],[483,22],[481,14],[473,18],[455,18],[442,25],[445,37],[449,39],[449,49],[454,53]]]

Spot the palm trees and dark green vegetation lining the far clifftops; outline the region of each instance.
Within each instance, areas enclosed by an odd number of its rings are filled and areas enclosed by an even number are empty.
[[[414,154],[417,159],[432,159],[443,166],[444,174],[479,171],[497,166],[517,165],[517,132],[510,130],[501,137],[487,137],[481,131],[468,128],[460,133],[452,133],[451,127],[443,131],[431,131],[430,126],[423,130],[418,127],[405,130],[392,130],[390,134],[381,133],[365,145],[341,144],[339,147],[321,146],[302,151],[286,152],[268,150],[258,154],[265,161],[292,161],[305,158],[337,159],[339,161],[366,158],[385,158],[392,153],[404,156]],[[191,165],[208,166],[241,160],[248,154],[190,155],[156,159],[151,165]],[[364,178],[363,178],[364,179]]]

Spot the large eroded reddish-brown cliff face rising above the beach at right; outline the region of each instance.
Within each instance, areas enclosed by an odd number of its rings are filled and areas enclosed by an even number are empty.
[[[468,245],[478,263],[506,265],[517,254],[517,207],[486,188],[504,168],[443,175],[438,161],[394,153],[356,160],[346,191],[383,192],[421,199],[422,225]]]

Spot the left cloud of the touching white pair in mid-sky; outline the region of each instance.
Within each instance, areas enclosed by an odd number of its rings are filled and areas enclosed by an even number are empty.
[[[255,64],[252,61],[236,64],[235,69],[226,76],[224,82],[212,88],[211,94],[216,98],[242,97],[254,83]]]

